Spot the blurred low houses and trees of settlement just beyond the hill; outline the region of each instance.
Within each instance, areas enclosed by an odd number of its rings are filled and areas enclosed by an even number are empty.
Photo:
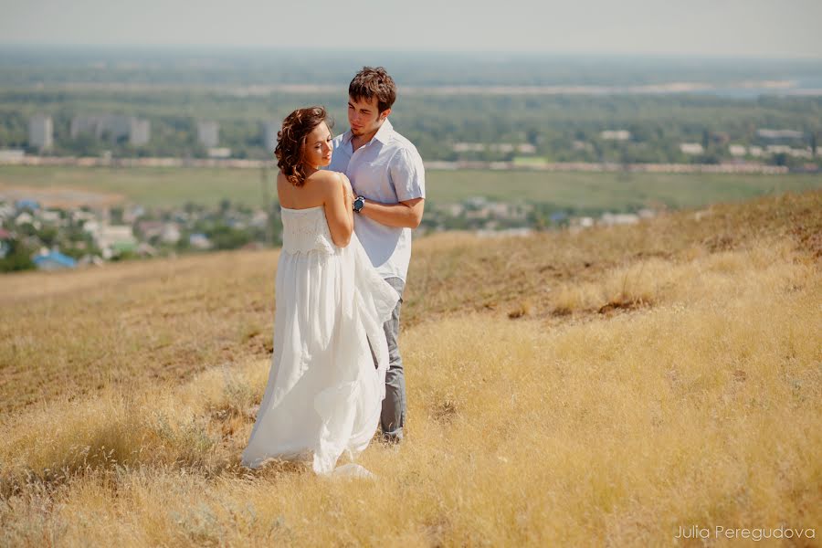
[[[654,216],[637,213],[569,216],[539,205],[504,204],[484,197],[435,205],[415,231],[419,237],[443,230],[479,236],[522,236],[534,230],[621,225]],[[279,246],[279,211],[223,200],[216,208],[188,204],[148,209],[142,205],[91,208],[48,207],[30,198],[0,200],[0,271],[75,269],[131,258],[174,257],[217,249]]]

